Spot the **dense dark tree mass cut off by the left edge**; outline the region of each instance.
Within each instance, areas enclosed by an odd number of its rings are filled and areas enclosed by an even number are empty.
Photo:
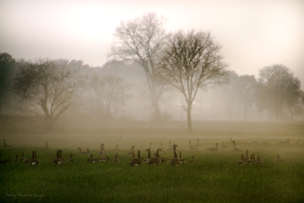
[[[0,114],[11,103],[16,66],[17,62],[10,54],[0,53]]]

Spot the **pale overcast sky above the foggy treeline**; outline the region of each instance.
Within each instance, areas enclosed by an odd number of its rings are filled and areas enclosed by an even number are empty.
[[[14,58],[66,58],[102,66],[120,21],[145,12],[167,31],[211,31],[230,69],[256,75],[272,64],[304,83],[304,1],[0,1],[0,52]]]

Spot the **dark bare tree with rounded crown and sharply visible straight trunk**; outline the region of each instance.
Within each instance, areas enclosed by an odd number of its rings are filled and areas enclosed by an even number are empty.
[[[187,102],[188,131],[192,131],[191,105],[199,88],[226,79],[226,66],[210,33],[178,31],[168,38],[159,62],[161,81],[178,89]]]

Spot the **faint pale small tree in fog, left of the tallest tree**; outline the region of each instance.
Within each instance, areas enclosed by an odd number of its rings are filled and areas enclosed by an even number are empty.
[[[94,90],[92,99],[95,101],[101,117],[105,119],[111,119],[121,113],[131,96],[128,94],[130,85],[119,76],[99,77],[95,74],[91,78],[91,85]]]

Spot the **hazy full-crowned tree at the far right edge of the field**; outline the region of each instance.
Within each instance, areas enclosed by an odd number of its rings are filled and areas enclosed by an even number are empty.
[[[300,81],[285,65],[275,64],[260,69],[257,106],[268,109],[275,119],[299,114],[302,109]]]

